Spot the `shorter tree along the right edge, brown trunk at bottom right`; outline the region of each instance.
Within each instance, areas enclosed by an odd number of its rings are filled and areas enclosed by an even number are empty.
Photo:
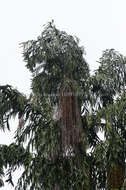
[[[101,151],[104,155],[101,159],[106,158],[108,189],[120,189],[125,172],[126,59],[110,49],[103,52],[99,63],[99,69],[93,76],[93,92],[98,107],[102,109],[98,111],[100,118],[105,120],[105,141],[104,146],[101,146],[105,154]]]

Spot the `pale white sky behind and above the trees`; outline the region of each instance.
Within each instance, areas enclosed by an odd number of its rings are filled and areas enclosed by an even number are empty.
[[[126,55],[126,0],[0,0],[0,85],[29,93],[30,73],[19,43],[35,39],[52,19],[57,28],[80,39],[91,70],[107,48]],[[1,144],[12,141],[16,125],[11,133],[0,131]]]

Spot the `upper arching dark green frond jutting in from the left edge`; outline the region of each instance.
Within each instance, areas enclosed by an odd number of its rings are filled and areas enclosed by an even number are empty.
[[[21,118],[27,98],[18,90],[9,85],[0,86],[0,127],[7,126],[9,129],[9,119],[18,115]]]

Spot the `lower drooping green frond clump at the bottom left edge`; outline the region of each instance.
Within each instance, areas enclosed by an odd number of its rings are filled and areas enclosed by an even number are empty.
[[[23,146],[15,143],[0,145],[0,186],[4,186],[2,178],[7,176],[6,182],[13,184],[13,173],[21,166],[28,167],[32,159],[32,154],[27,152]],[[5,173],[4,169],[7,169]]]

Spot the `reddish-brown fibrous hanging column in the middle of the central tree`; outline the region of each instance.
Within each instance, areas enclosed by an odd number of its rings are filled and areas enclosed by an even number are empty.
[[[82,123],[78,107],[77,85],[66,79],[59,89],[59,113],[62,132],[62,151],[64,156],[72,156],[79,151]]]

